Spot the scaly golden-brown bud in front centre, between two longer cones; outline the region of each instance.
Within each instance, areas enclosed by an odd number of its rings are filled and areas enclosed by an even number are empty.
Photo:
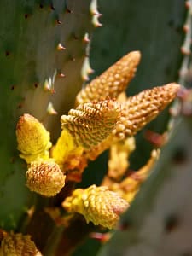
[[[78,146],[91,148],[113,131],[119,113],[120,105],[113,100],[84,103],[61,116],[62,129],[72,134]]]

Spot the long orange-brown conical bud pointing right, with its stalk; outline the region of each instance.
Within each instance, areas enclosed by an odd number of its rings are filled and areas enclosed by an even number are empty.
[[[131,137],[147,125],[151,120],[174,100],[179,90],[179,84],[166,84],[154,87],[150,90],[143,90],[136,96],[128,97],[125,103],[121,103],[122,111],[118,124],[105,140],[90,148],[86,157],[95,160],[99,154],[113,143],[117,143],[126,137]]]

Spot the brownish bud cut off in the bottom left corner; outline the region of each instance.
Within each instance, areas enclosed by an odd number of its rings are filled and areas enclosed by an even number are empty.
[[[41,256],[31,237],[22,234],[10,233],[3,238],[0,247],[0,256]]]

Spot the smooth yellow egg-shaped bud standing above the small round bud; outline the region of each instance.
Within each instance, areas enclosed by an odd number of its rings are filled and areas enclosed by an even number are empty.
[[[51,147],[49,131],[44,128],[38,119],[25,113],[20,116],[16,127],[16,137],[20,157],[27,163],[40,158],[48,158]]]

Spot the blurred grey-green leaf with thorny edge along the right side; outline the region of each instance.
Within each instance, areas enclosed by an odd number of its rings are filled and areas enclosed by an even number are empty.
[[[178,80],[191,87],[191,1],[186,2]],[[174,24],[174,22],[172,22]],[[168,143],[162,148],[151,177],[128,212],[122,216],[111,241],[97,255],[190,255],[191,250],[191,90],[183,90],[172,107]]]

